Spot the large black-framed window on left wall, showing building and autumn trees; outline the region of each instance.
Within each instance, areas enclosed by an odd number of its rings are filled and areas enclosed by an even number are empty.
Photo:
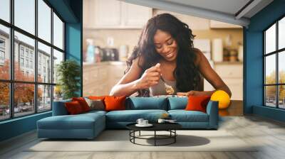
[[[0,1],[0,121],[51,111],[64,23],[45,0]],[[56,97],[56,98],[55,98]]]

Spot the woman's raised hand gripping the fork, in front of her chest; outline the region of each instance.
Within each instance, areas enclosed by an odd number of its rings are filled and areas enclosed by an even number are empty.
[[[158,84],[158,81],[160,80],[160,72],[160,63],[157,63],[157,65],[145,70],[142,77],[138,79],[138,89],[147,89]]]

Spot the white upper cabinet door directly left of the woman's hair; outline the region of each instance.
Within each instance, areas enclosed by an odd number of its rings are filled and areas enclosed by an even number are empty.
[[[152,17],[152,9],[135,4],[122,3],[123,26],[142,28]]]

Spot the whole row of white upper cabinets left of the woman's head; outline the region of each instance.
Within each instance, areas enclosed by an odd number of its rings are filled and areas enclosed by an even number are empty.
[[[117,0],[85,0],[85,28],[142,28],[152,17],[152,9]]]

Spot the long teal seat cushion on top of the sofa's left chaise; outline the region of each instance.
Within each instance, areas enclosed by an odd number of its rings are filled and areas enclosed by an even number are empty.
[[[93,129],[96,122],[102,121],[105,125],[104,118],[100,113],[50,116],[37,121],[37,124],[41,129]]]

